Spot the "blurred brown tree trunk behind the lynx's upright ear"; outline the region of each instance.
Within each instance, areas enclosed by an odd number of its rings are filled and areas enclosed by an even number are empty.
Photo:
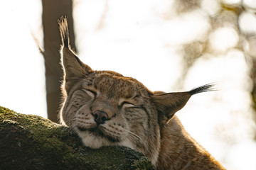
[[[70,45],[75,47],[75,36],[73,29],[73,1],[72,0],[42,0],[43,4],[43,43],[46,66],[46,99],[48,118],[58,122],[58,111],[60,106],[60,84],[63,71],[60,65],[60,33],[58,30],[58,19],[60,16],[68,16],[70,30]]]

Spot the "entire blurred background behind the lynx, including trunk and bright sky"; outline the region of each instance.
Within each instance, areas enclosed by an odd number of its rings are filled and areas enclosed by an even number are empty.
[[[2,1],[0,106],[58,121],[63,15],[92,69],[151,91],[215,83],[176,115],[227,169],[256,169],[255,0]]]

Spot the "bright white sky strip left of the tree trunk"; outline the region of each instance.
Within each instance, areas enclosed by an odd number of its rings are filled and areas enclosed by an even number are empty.
[[[43,56],[32,36],[42,40],[41,11],[39,0],[12,0],[0,6],[0,105],[46,118]]]

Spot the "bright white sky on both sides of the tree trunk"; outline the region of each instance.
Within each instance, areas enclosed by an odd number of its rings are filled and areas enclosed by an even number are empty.
[[[92,69],[134,77],[152,91],[190,90],[216,82],[220,91],[193,96],[177,115],[186,130],[228,169],[256,169],[251,66],[243,52],[233,48],[239,40],[236,30],[216,29],[210,35],[215,54],[197,60],[184,86],[177,86],[184,69],[179,45],[205,38],[206,13],[218,12],[216,1],[203,0],[202,11],[168,20],[163,16],[174,14],[169,11],[171,0],[107,2],[106,6],[105,0],[74,1],[80,59]],[[244,3],[256,6],[253,0]],[[10,0],[0,6],[0,106],[47,118],[43,56],[31,36],[42,43],[41,11],[39,0]],[[102,17],[104,11],[107,14]],[[239,22],[242,30],[255,33],[255,15],[242,13]]]

